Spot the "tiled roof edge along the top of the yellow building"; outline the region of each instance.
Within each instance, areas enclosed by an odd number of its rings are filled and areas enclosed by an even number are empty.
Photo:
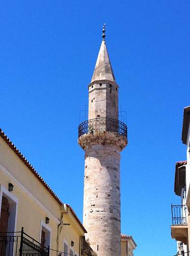
[[[22,153],[18,150],[18,148],[13,144],[13,142],[5,135],[5,133],[2,131],[0,128],[0,137],[8,144],[8,146],[12,149],[12,151],[20,158],[20,160],[29,168],[29,170],[36,176],[36,178],[42,183],[42,185],[47,189],[49,194],[60,204],[63,205],[63,202],[59,199],[59,197],[56,195],[55,192],[49,187],[49,185],[44,181],[44,179],[39,175],[39,173],[36,172],[35,168],[30,164],[30,162],[22,155]],[[87,233],[87,230],[83,226],[82,222],[78,219],[77,215],[75,214],[74,210],[72,207],[67,204],[67,207],[70,209],[72,215],[82,227],[85,233]]]

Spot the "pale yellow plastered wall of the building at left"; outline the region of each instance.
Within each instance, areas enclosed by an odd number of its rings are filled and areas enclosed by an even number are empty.
[[[14,185],[12,192],[8,191],[9,182]],[[21,227],[24,227],[24,232],[40,242],[41,222],[45,223],[45,218],[48,217],[49,224],[47,226],[51,229],[50,247],[56,250],[57,230],[62,214],[60,204],[49,194],[2,138],[0,138],[0,185],[1,194],[3,190],[7,190],[7,194],[18,200],[15,231],[20,231]],[[67,210],[68,213],[64,213],[64,223],[70,225],[63,226],[59,250],[63,251],[63,241],[65,239],[69,246],[71,241],[74,242],[73,248],[79,254],[79,238],[84,236],[84,231],[69,212],[69,209]],[[51,255],[56,255],[56,253],[51,252]]]

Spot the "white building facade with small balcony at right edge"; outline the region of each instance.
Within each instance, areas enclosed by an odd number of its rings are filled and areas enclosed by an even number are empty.
[[[179,205],[172,205],[171,236],[177,241],[177,253],[189,255],[190,245],[190,106],[184,108],[182,142],[186,145],[186,160],[176,163],[174,192]]]

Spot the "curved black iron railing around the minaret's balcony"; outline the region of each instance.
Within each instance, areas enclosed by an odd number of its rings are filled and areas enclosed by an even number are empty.
[[[94,118],[80,123],[78,126],[78,137],[88,133],[104,131],[117,133],[127,138],[127,125],[122,121],[106,117]]]

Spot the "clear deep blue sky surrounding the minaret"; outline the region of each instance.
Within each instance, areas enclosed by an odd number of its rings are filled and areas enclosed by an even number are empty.
[[[182,114],[190,93],[189,1],[4,0],[0,8],[0,126],[81,220],[77,126],[106,23],[128,125],[122,232],[137,242],[136,256],[173,255],[175,162],[185,159]]]

